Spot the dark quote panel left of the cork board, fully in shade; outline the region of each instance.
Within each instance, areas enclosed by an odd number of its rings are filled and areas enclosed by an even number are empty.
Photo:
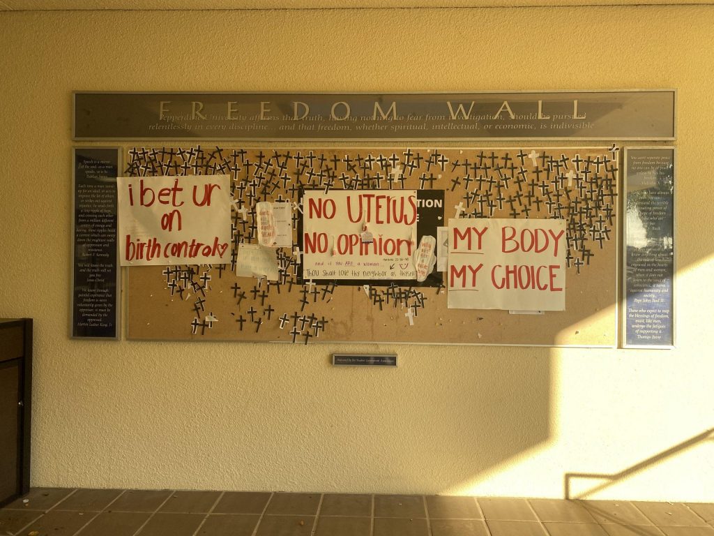
[[[74,149],[72,337],[118,337],[118,149]]]

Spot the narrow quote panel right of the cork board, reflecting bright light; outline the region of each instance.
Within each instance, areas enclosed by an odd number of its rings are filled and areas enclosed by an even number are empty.
[[[674,149],[628,149],[625,346],[674,344]]]

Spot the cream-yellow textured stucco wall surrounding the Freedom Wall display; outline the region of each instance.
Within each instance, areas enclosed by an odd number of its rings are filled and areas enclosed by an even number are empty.
[[[32,484],[714,501],[714,8],[0,13],[0,317],[35,319]],[[71,340],[71,91],[676,87],[678,348]],[[614,307],[614,304],[613,304]],[[336,349],[398,352],[333,369]],[[575,495],[602,480],[573,483]]]

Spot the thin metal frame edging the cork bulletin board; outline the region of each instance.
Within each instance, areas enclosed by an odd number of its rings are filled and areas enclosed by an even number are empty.
[[[173,140],[176,142],[177,140]],[[189,140],[186,140],[189,141]],[[236,140],[239,141],[239,140]],[[531,140],[533,141],[533,140]],[[614,141],[613,139],[608,139],[609,142],[613,142],[616,147],[619,149],[622,149],[622,146],[618,145],[616,142],[620,140]],[[383,142],[382,142],[383,143]],[[313,144],[312,142],[310,143],[305,143],[305,144],[286,144],[286,145],[270,145],[271,149],[276,149],[276,150],[282,150],[282,149],[303,149],[304,147],[311,147],[315,146],[316,144]],[[349,149],[355,149],[361,146],[353,146],[349,147]],[[414,147],[414,146],[411,146]],[[436,147],[434,144],[430,145],[425,145],[424,147]],[[611,146],[610,146],[611,147]],[[605,147],[603,145],[553,145],[553,146],[548,146],[548,148],[557,148],[557,149],[583,149],[583,150],[608,150],[610,147]],[[661,149],[664,146],[655,146],[655,148]],[[336,147],[329,147],[329,149],[335,149]],[[461,147],[444,147],[445,149],[463,149],[463,150],[476,150],[476,149],[481,149],[478,145],[474,146],[461,146]],[[486,147],[483,147],[486,148]],[[522,147],[518,147],[518,149],[523,149],[523,150],[528,150],[528,149],[543,149],[544,147],[540,145],[524,145]],[[129,149],[128,146],[122,147],[124,150],[124,155],[123,157],[126,157],[126,151]],[[406,145],[403,144],[398,144],[395,143],[391,146],[372,146],[370,145],[368,149],[408,149]],[[503,149],[513,149],[513,147],[498,147],[498,146],[493,146],[489,145],[488,149],[496,149],[496,150],[503,150]],[[621,151],[620,151],[621,153]],[[619,162],[619,161],[618,161]],[[126,162],[124,164],[124,169],[126,169]],[[622,169],[621,164],[618,164],[618,192],[621,192],[622,188],[622,174],[620,173],[620,169]],[[615,232],[615,251],[618,252],[615,254],[615,269],[613,273],[613,307],[615,307],[615,312],[613,314],[613,338],[612,342],[610,344],[509,344],[509,343],[483,343],[483,342],[413,342],[409,340],[404,340],[404,341],[340,341],[340,340],[330,340],[330,341],[314,341],[311,342],[311,344],[408,344],[408,345],[416,345],[416,346],[468,346],[468,347],[491,347],[491,346],[498,346],[498,347],[528,347],[528,348],[609,348],[609,349],[615,349],[618,347],[619,340],[620,340],[620,297],[618,294],[619,290],[619,277],[620,277],[620,234],[622,232],[622,221],[621,221],[621,207],[618,207],[618,213],[615,214],[615,223],[617,224],[617,232]],[[122,267],[122,269],[129,269],[130,267]],[[191,343],[202,343],[202,342],[236,342],[236,343],[252,343],[256,344],[256,342],[260,343],[278,343],[278,344],[293,344],[290,341],[277,341],[277,340],[268,340],[266,339],[265,341],[256,341],[254,339],[250,340],[240,340],[240,339],[148,339],[148,338],[135,338],[131,337],[131,334],[129,333],[129,274],[130,272],[127,271],[124,274],[124,283],[126,284],[126,292],[124,292],[124,314],[126,314],[126,339],[127,340],[134,340],[134,341],[166,341],[166,340],[181,340],[181,342],[191,342]],[[547,316],[547,315],[546,315]]]

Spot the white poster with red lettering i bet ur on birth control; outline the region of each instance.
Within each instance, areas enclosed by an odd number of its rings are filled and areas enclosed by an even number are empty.
[[[231,262],[227,175],[119,177],[122,266]]]

